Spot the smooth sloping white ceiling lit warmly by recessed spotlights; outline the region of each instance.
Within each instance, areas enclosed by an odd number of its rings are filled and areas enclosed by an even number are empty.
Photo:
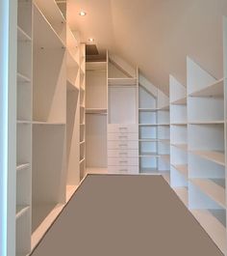
[[[84,42],[138,65],[167,94],[169,74],[186,85],[187,55],[223,76],[224,14],[227,0],[69,0],[68,18]]]

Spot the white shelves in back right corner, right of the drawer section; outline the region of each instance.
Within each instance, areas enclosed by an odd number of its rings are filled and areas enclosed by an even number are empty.
[[[139,75],[139,173],[162,174],[169,183],[168,98]]]

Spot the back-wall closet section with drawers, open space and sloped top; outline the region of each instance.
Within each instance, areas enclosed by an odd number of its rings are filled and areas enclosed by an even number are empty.
[[[108,59],[108,172],[139,173],[138,69]]]

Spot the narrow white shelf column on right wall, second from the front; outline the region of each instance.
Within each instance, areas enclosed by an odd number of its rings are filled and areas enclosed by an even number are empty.
[[[170,89],[170,184],[188,206],[187,89],[173,76]]]

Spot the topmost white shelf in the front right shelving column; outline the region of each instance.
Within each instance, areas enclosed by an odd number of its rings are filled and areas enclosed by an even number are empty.
[[[199,91],[189,94],[190,97],[224,97],[224,79],[215,81],[213,84]]]

